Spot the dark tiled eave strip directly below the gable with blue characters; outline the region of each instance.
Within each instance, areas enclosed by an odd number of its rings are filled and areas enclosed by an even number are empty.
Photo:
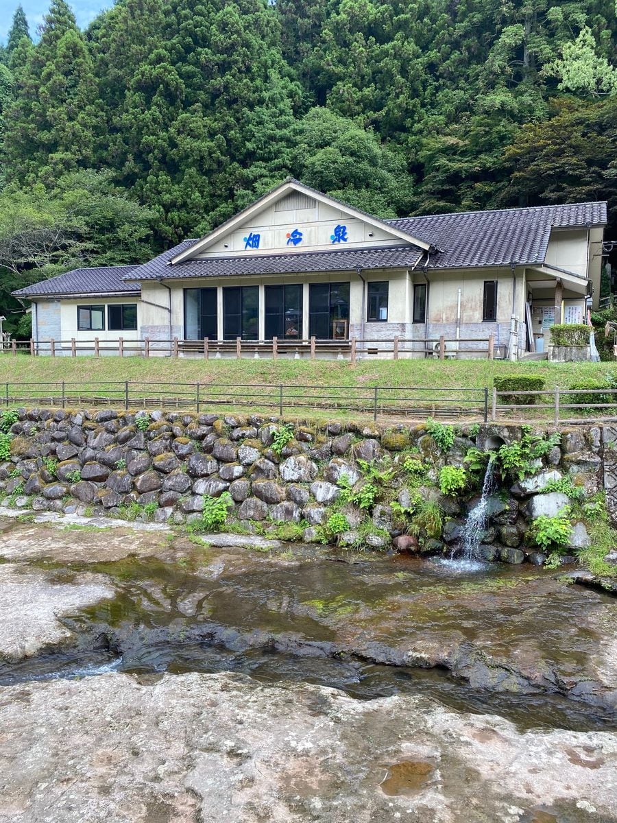
[[[185,240],[175,249],[134,268],[131,277],[138,280],[165,280],[181,277],[233,277],[251,274],[287,274],[304,272],[352,272],[356,268],[410,268],[422,257],[417,246],[384,246],[380,249],[346,249],[328,252],[262,254],[261,256],[204,258],[184,260],[169,266],[168,261],[194,240]]]

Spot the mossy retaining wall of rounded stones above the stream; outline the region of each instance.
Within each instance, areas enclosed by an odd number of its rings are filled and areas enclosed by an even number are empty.
[[[152,412],[141,430],[136,424],[139,415],[114,410],[21,409],[19,421],[11,427],[11,460],[0,463],[0,494],[5,504],[8,500],[21,508],[111,516],[121,516],[132,503],[151,504],[148,514],[155,521],[184,523],[201,517],[204,495],[217,497],[229,491],[234,500],[232,515],[248,528],[254,522],[304,522],[304,538],[314,540],[322,537],[316,527],[326,522],[328,506],[341,495],[341,476],[346,475],[352,485],[362,484],[360,461],[379,463],[390,458],[388,463],[397,468],[401,453],[415,447],[428,464],[429,481],[434,484],[439,469],[445,464],[462,465],[471,446],[484,448],[495,440],[509,442],[522,435],[519,426],[489,424],[479,432],[463,428],[452,449],[443,455],[422,425],[380,428],[295,423],[294,439],[279,455],[272,449],[281,425],[276,417]],[[556,514],[568,502],[559,492],[537,492],[546,482],[569,472],[593,494],[602,486],[601,455],[601,426],[564,430],[561,444],[538,466],[535,477],[494,497],[493,523],[482,535],[482,556],[513,562],[531,556],[534,550],[522,545],[528,519],[540,513]],[[392,500],[408,504],[404,475],[402,470],[397,472],[387,499],[384,495],[372,509],[373,524],[381,534],[369,535],[369,546],[387,546],[390,539],[397,547],[406,541],[410,545],[388,504]],[[616,495],[615,466],[606,477],[609,494]],[[456,548],[466,511],[477,498],[462,502],[430,485],[422,493],[441,506],[446,519],[451,518],[443,539],[427,541],[424,548],[439,552],[444,543]],[[350,533],[343,540],[350,543],[367,514],[350,505],[345,514]],[[573,546],[586,538],[584,527],[578,532]]]

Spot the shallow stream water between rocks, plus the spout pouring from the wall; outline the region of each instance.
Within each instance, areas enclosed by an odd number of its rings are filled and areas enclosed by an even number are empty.
[[[489,491],[485,478],[483,500]],[[473,539],[485,512],[474,516]],[[617,604],[565,586],[547,570],[493,563],[482,574],[470,566],[452,574],[411,556],[335,556],[309,546],[277,554],[181,538],[161,556],[86,562],[63,560],[79,535],[63,539],[67,547],[54,558],[30,564],[58,584],[95,574],[116,597],[62,618],[76,638],[68,647],[2,663],[0,685],[106,672],[230,671],[263,683],[332,686],[363,700],[430,695],[524,728],[615,722],[600,699],[602,684],[587,700],[584,691],[559,693],[554,683],[598,677],[591,662]],[[123,539],[107,532],[109,542]]]

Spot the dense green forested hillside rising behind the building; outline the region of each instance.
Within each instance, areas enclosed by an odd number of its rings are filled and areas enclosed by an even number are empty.
[[[617,239],[614,0],[52,0],[0,60],[4,314],[289,174],[381,216],[608,199]]]

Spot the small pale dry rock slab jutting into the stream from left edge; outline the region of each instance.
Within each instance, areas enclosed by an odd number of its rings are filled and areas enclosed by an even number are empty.
[[[49,573],[0,565],[0,658],[16,661],[72,639],[58,617],[114,597],[114,588],[95,574],[72,583],[53,583]]]

